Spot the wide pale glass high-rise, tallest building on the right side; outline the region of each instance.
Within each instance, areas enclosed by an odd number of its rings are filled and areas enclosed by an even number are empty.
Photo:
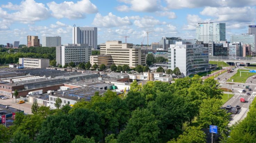
[[[196,25],[196,39],[203,41],[203,43],[225,41],[226,24],[213,22],[198,23]]]

